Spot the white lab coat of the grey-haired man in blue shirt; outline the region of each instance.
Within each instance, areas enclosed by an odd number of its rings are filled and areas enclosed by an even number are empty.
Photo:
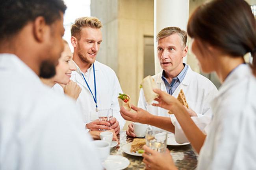
[[[152,77],[155,80],[158,88],[160,88],[162,91],[166,91],[165,83],[161,79],[161,76],[162,76],[162,72]],[[215,97],[215,94],[217,93],[217,88],[209,79],[196,73],[195,71],[192,71],[192,69],[189,67],[184,79],[174,91],[173,93],[174,97],[178,97],[178,93],[180,92],[180,89],[183,89],[185,93],[189,108],[191,108],[197,113],[197,117],[191,117],[191,118],[193,119],[195,124],[197,124],[198,128],[203,130],[206,127],[206,125],[209,124],[211,121],[212,112],[210,108],[210,102]],[[187,137],[184,134],[175,116],[169,115],[167,113],[168,111],[163,108],[148,105],[145,100],[142,89],[139,95],[138,107],[143,108],[144,110],[147,110],[148,112],[154,115],[171,117],[171,121],[175,126],[174,136],[175,136],[176,142],[177,143],[188,142]]]

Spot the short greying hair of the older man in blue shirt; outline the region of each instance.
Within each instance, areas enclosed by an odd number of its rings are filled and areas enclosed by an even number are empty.
[[[159,33],[158,35],[156,36],[156,41],[158,42],[158,40],[160,40],[161,38],[165,38],[165,37],[169,37],[170,35],[173,35],[177,33],[182,42],[183,42],[183,45],[184,47],[186,47],[186,44],[187,44],[187,32],[180,29],[179,27],[165,27],[163,28]]]

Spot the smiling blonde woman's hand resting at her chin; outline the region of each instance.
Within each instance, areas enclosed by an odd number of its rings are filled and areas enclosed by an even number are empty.
[[[68,95],[69,97],[77,100],[79,94],[81,93],[81,88],[76,84],[76,82],[73,82],[70,80],[64,87],[64,93]]]

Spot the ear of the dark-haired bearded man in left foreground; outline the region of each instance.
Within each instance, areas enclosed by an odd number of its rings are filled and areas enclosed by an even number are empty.
[[[46,25],[45,18],[43,16],[38,16],[35,18],[33,22],[33,35],[35,39],[38,42],[42,42],[47,31],[50,31],[50,29],[49,26]]]

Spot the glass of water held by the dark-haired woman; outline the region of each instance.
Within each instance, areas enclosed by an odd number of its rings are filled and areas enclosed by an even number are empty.
[[[152,126],[148,126],[146,132],[146,144],[152,150],[165,152],[167,147],[167,132],[163,130],[153,130]]]

